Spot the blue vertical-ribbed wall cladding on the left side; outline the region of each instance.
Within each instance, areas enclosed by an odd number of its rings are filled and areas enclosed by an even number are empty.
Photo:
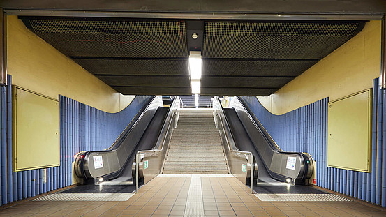
[[[1,204],[34,197],[51,190],[70,186],[73,179],[72,163],[79,151],[103,150],[112,145],[130,121],[147,103],[149,96],[136,96],[130,105],[117,113],[108,113],[84,103],[59,96],[60,100],[60,166],[48,167],[47,181],[43,170],[13,172],[12,153],[12,77],[1,86]]]

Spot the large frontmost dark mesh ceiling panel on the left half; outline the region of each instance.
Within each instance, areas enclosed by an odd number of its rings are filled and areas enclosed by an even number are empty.
[[[24,23],[71,57],[188,57],[184,21],[51,17]]]

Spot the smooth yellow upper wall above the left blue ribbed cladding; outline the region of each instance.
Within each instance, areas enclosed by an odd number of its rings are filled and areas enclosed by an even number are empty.
[[[105,112],[119,112],[134,96],[123,96],[36,36],[17,16],[7,16],[8,74],[12,83],[58,98],[59,94]]]

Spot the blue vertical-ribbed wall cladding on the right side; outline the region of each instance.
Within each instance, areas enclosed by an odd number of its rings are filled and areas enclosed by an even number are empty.
[[[386,91],[378,80],[373,80],[371,173],[327,167],[328,98],[281,115],[253,96],[243,98],[281,149],[313,156],[317,186],[386,207]]]

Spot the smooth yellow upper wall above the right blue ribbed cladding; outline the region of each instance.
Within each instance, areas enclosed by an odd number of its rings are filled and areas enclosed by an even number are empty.
[[[381,22],[371,21],[336,49],[268,97],[258,97],[274,114],[284,114],[317,100],[336,100],[373,87],[380,76]]]

